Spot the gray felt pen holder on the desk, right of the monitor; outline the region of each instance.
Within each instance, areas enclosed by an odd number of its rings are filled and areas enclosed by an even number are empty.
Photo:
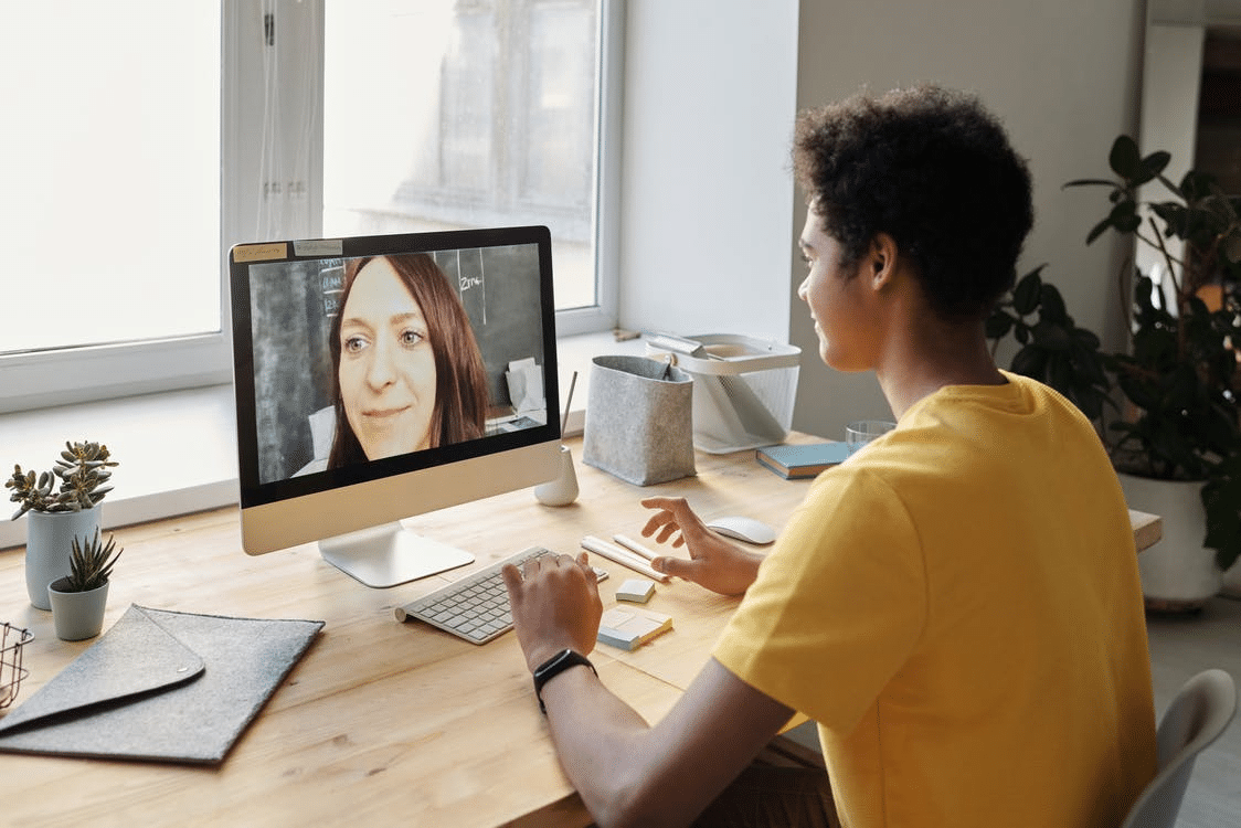
[[[635,485],[694,474],[690,375],[645,356],[593,362],[582,462]]]

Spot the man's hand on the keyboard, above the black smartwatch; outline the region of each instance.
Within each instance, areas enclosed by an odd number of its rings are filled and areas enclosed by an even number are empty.
[[[513,628],[531,673],[566,647],[583,655],[594,649],[603,602],[586,552],[576,561],[568,555],[536,557],[521,571],[510,564],[503,575]]]

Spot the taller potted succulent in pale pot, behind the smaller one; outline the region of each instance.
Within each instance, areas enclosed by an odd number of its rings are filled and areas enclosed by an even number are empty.
[[[5,480],[17,505],[12,519],[29,514],[26,529],[26,592],[40,610],[51,610],[47,585],[69,570],[73,539],[89,540],[99,529],[99,502],[112,490],[112,459],[102,443],[65,443],[51,472],[36,474],[14,466]]]

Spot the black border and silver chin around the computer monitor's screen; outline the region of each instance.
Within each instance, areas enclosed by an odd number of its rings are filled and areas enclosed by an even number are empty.
[[[541,369],[547,411],[546,423],[506,433],[493,433],[411,454],[382,458],[345,468],[325,469],[304,477],[290,477],[266,483],[259,480],[256,360],[249,292],[252,266],[280,261],[347,259],[360,256],[515,245],[536,245],[539,248]],[[374,498],[397,498],[398,506],[380,509],[380,511],[385,513],[386,520],[400,520],[469,499],[535,485],[555,477],[561,423],[551,236],[547,227],[490,227],[246,243],[237,245],[230,251],[228,263],[232,295],[240,503],[243,513],[243,545],[247,552],[256,555],[367,529],[376,523],[376,510],[364,506]],[[494,474],[494,467],[498,464],[527,468],[509,468],[508,472],[511,473]],[[490,479],[472,484],[468,479],[462,478],[460,473],[463,472],[469,475],[488,477],[485,472],[488,467],[493,467]],[[450,485],[437,485],[436,478],[444,475]],[[289,508],[280,508],[282,504]],[[320,514],[325,509],[333,514]],[[267,523],[284,523],[282,515],[287,513],[289,519],[297,520],[299,525],[283,528],[264,525],[259,528],[257,520],[246,520],[247,513],[254,518],[262,516]],[[331,534],[325,535],[325,531]]]

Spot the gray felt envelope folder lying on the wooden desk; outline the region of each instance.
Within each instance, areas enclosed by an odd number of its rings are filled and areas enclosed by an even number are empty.
[[[133,605],[0,719],[0,751],[220,762],[321,628]]]

